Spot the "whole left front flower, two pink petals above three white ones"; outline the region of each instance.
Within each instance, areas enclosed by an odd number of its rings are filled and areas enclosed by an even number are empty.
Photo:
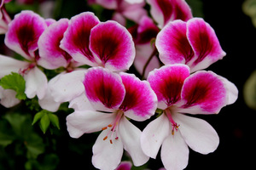
[[[67,130],[73,138],[102,130],[93,146],[93,165],[100,169],[116,168],[123,148],[135,166],[148,161],[140,146],[142,132],[126,117],[144,121],[154,115],[157,99],[149,83],[132,74],[93,67],[85,73],[84,89],[94,109],[76,110],[67,116]]]

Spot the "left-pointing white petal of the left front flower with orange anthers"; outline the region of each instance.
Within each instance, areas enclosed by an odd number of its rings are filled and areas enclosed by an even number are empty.
[[[115,115],[112,113],[75,111],[67,116],[67,131],[72,138],[79,138],[84,133],[102,130],[102,127],[107,127],[114,118]]]

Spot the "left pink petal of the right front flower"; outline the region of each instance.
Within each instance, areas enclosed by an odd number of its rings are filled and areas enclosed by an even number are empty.
[[[165,65],[149,72],[148,82],[157,95],[160,109],[166,109],[180,100],[183,82],[187,77],[187,65]]]

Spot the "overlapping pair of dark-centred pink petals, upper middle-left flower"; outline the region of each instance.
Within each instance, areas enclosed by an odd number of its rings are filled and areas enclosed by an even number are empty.
[[[60,47],[77,62],[111,71],[128,70],[135,57],[129,31],[115,21],[100,22],[90,12],[71,18]]]

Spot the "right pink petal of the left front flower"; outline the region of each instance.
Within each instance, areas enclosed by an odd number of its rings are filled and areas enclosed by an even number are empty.
[[[154,115],[157,97],[146,81],[141,81],[133,74],[120,73],[125,86],[125,99],[119,109],[125,116],[136,121],[144,121]]]

